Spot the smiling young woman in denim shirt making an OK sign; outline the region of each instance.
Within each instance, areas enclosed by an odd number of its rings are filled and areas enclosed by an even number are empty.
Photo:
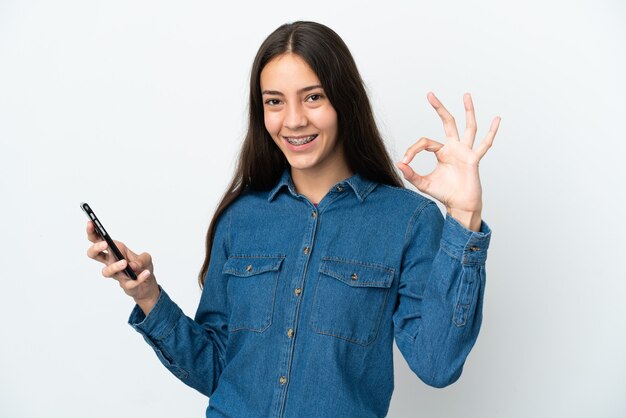
[[[210,224],[194,319],[157,285],[151,258],[122,243],[138,280],[106,243],[106,265],[137,306],[129,322],[180,380],[210,397],[206,416],[382,417],[395,338],[411,369],[453,383],[478,336],[490,230],[467,127],[432,94],[446,143],[421,138],[397,167],[436,204],[403,187],[348,48],[331,29],[295,22],[261,45],[248,133]],[[433,152],[429,175],[408,165]]]

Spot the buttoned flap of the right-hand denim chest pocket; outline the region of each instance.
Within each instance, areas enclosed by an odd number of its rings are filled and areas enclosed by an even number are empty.
[[[322,258],[320,273],[353,287],[390,287],[393,269],[377,264],[337,258]]]

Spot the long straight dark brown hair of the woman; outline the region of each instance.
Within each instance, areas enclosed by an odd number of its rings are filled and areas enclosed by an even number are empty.
[[[252,64],[248,132],[235,174],[209,225],[206,256],[198,275],[200,287],[209,269],[217,219],[247,188],[271,189],[288,166],[265,129],[260,83],[265,65],[287,52],[299,55],[317,74],[337,112],[338,140],[343,143],[352,172],[378,183],[404,187],[376,127],[363,80],[346,44],[332,29],[319,23],[284,24],[265,39]]]

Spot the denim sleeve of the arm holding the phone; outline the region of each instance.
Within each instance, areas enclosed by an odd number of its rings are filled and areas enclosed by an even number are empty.
[[[128,320],[170,372],[206,396],[217,387],[225,365],[228,306],[222,266],[228,258],[227,213],[217,223],[211,263],[195,319],[186,316],[161,289],[159,300],[147,316],[135,306]]]

